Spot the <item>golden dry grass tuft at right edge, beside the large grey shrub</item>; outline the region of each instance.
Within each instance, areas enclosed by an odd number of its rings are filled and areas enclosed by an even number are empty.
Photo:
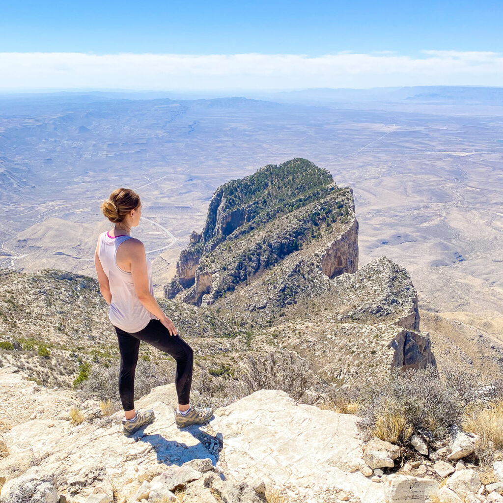
[[[488,404],[487,408],[468,414],[463,430],[480,437],[480,448],[503,449],[503,400]]]

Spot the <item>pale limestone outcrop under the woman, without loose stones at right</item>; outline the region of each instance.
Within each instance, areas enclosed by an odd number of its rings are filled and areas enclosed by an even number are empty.
[[[19,373],[10,375],[33,389]],[[0,377],[3,394],[9,385]],[[136,407],[153,408],[156,419],[131,438],[122,433],[122,411],[74,425],[57,419],[61,411],[54,410],[45,419],[14,426],[4,434],[9,455],[0,459],[6,478],[0,501],[12,503],[16,491],[31,484],[33,494],[44,494],[43,501],[51,503],[129,502],[145,496],[153,502],[182,487],[187,503],[219,501],[215,494],[260,503],[261,491],[274,489],[299,503],[339,497],[384,502],[382,483],[346,468],[363,455],[356,416],[298,403],[283,391],[261,390],[216,409],[208,425],[178,429],[176,404],[174,384],[137,400]]]

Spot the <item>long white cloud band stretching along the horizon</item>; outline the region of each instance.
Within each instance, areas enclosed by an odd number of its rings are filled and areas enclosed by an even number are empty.
[[[503,54],[422,51],[302,54],[0,53],[0,89],[293,90],[501,86]]]

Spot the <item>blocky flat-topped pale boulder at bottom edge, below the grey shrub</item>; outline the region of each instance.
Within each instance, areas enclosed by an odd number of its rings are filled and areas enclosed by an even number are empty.
[[[382,482],[386,503],[425,503],[425,500],[439,491],[439,483],[436,480],[410,475],[394,473]]]

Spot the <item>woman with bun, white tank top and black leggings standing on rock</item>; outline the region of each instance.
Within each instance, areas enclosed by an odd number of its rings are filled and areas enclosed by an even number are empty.
[[[121,355],[119,395],[124,408],[124,434],[132,435],[152,423],[151,409],[134,408],[134,374],[140,341],[171,355],[176,363],[175,386],[178,410],[175,421],[179,427],[206,423],[213,415],[210,407],[190,406],[193,351],[179,336],[173,321],[160,309],[153,295],[150,260],[143,243],[130,235],[141,217],[141,202],[131,189],[116,189],[101,205],[103,214],[114,228],[98,237],[95,267],[100,291],[110,305],[112,322]]]

